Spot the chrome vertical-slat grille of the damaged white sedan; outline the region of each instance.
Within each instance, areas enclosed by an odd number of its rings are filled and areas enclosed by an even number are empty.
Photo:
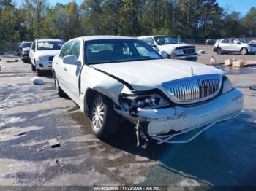
[[[212,98],[219,93],[222,77],[218,74],[192,76],[163,84],[178,104],[190,104]]]

